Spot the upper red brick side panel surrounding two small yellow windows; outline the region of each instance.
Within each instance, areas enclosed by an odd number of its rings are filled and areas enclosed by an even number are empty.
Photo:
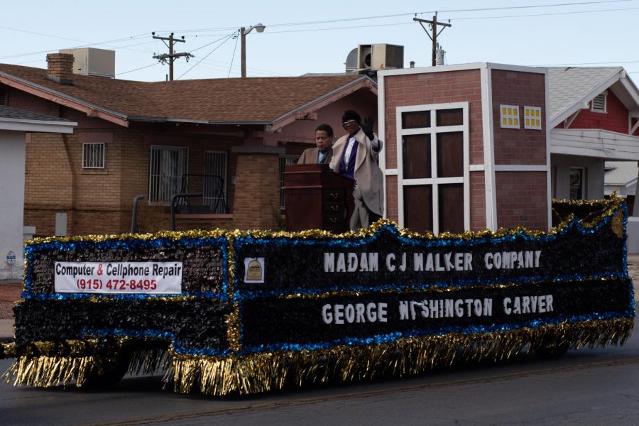
[[[541,107],[546,114],[543,74],[492,70],[495,164],[546,164],[546,129],[524,129],[524,106]],[[520,129],[501,129],[499,105],[519,107]]]

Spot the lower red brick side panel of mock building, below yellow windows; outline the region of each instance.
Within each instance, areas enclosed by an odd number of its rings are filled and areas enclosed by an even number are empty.
[[[546,175],[546,172],[495,173],[498,227],[547,229]]]

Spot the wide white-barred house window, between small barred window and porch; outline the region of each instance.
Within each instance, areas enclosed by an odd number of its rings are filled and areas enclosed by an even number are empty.
[[[182,176],[188,173],[189,148],[179,146],[151,146],[148,165],[149,204],[169,205],[173,195],[179,194]]]

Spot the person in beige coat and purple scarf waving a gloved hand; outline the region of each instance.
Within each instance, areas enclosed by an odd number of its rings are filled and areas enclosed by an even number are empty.
[[[359,114],[351,109],[345,111],[342,126],[349,134],[339,138],[333,146],[330,167],[355,180],[351,231],[366,227],[383,215],[383,175],[377,164],[383,143],[373,133],[373,123],[373,118],[367,117],[362,124]]]

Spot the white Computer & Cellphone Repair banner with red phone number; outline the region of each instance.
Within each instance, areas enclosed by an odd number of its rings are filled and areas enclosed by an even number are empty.
[[[182,262],[55,262],[58,293],[182,293]]]

